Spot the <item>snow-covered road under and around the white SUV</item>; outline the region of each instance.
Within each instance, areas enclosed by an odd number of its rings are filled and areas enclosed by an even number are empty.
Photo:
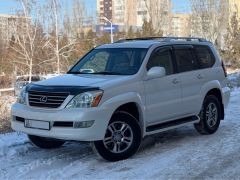
[[[23,134],[0,135],[0,179],[239,179],[240,89],[231,96],[217,133],[203,136],[192,126],[160,133],[121,162],[102,160],[87,143],[42,150]]]

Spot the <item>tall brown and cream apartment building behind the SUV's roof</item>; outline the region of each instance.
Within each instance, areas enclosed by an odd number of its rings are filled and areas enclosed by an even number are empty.
[[[105,16],[125,30],[130,26],[141,28],[144,19],[151,18],[156,30],[161,29],[168,34],[171,29],[171,9],[171,0],[97,0],[98,16]]]

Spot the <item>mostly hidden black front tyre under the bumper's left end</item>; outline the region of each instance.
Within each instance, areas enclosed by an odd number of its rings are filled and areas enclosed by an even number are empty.
[[[33,145],[43,149],[59,148],[65,143],[65,141],[63,140],[45,138],[34,135],[28,135],[28,139]]]

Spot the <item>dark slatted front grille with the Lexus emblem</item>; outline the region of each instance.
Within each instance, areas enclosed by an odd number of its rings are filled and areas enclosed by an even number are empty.
[[[34,107],[58,108],[68,95],[69,93],[28,91],[28,102]]]

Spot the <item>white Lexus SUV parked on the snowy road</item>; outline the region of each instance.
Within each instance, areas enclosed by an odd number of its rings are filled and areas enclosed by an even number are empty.
[[[96,47],[66,75],[29,84],[12,128],[41,148],[90,141],[106,160],[135,154],[143,137],[194,124],[212,134],[229,102],[226,72],[200,38],[138,38]]]

